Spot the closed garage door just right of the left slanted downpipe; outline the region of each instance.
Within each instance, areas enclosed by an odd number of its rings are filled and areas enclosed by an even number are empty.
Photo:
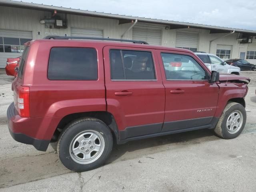
[[[146,41],[151,45],[161,45],[161,30],[134,27],[132,29],[132,40]]]

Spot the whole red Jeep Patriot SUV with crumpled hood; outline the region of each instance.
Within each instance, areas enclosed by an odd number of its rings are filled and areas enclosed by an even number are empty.
[[[102,165],[114,141],[198,129],[232,139],[244,129],[250,78],[210,71],[190,50],[75,39],[26,43],[7,110],[16,141],[40,151],[58,141],[68,169]],[[172,58],[170,68],[165,58]]]

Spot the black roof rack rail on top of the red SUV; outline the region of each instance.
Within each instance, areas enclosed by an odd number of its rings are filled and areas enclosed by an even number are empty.
[[[111,38],[98,38],[98,37],[71,37],[71,36],[56,36],[50,35],[45,36],[43,39],[91,39],[91,40],[108,40],[108,41],[122,41],[122,42],[132,42],[138,44],[148,44],[146,41],[128,40],[128,39],[111,39]]]

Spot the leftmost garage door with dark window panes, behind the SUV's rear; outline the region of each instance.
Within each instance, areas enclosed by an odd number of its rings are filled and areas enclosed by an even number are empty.
[[[32,31],[0,29],[0,68],[6,66],[7,58],[22,55],[24,43],[32,40]]]

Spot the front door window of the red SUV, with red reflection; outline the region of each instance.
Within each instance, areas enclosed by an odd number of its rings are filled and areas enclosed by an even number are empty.
[[[206,72],[187,55],[161,53],[167,80],[205,80]]]

